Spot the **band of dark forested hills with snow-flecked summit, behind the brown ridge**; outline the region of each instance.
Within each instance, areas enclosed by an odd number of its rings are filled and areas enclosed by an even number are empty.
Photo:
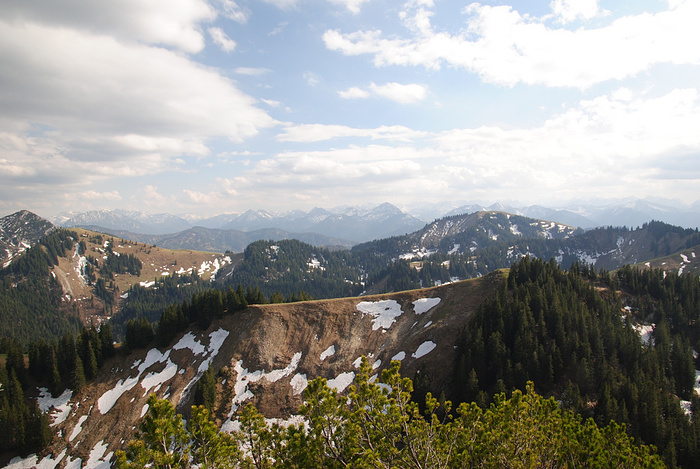
[[[411,235],[329,251],[296,240],[257,241],[218,282],[259,288],[268,298],[300,291],[314,298],[385,293],[430,287],[508,268],[525,255],[614,270],[649,263],[664,270],[694,271],[700,233],[660,222],[636,229],[587,232],[503,212],[479,212],[436,221]],[[697,252],[696,252],[697,251]],[[674,254],[671,259],[656,261]]]

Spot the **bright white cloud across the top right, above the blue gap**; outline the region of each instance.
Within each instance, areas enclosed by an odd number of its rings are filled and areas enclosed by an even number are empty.
[[[560,15],[580,17],[587,10],[561,3]],[[376,66],[404,65],[465,68],[482,80],[505,86],[517,83],[588,88],[622,80],[657,64],[698,64],[700,2],[678,0],[655,14],[617,19],[598,28],[552,28],[545,19],[523,16],[510,6],[473,3],[464,9],[467,27],[456,35],[434,32],[430,12],[407,8],[401,16],[413,33],[385,37],[381,30],[341,33],[327,30],[328,49],[345,55],[371,54]],[[568,8],[568,9],[567,9]],[[574,16],[571,16],[574,15]]]

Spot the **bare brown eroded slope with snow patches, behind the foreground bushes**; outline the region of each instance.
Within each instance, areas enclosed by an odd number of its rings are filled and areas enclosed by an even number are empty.
[[[16,460],[13,467],[49,457],[46,464],[59,457],[60,465],[106,464],[133,435],[150,393],[187,416],[209,366],[219,371],[214,414],[224,430],[234,428],[236,411],[247,402],[269,418],[294,415],[307,382],[319,376],[346,390],[362,356],[377,373],[401,360],[404,376],[427,374],[433,391],[449,396],[457,336],[502,279],[496,272],[425,290],[252,306],[207,330],[187,331],[166,349],[118,355],[80,393],[64,393],[61,402],[40,399],[46,408],[54,405],[52,456]]]

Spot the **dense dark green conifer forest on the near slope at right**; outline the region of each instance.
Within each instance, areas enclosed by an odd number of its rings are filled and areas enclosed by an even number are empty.
[[[535,389],[603,426],[655,445],[669,465],[698,467],[700,399],[692,391],[700,282],[630,267],[597,273],[524,258],[457,344],[460,401]],[[633,323],[655,324],[644,344]]]

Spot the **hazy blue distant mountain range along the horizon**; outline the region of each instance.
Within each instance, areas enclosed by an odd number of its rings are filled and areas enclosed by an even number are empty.
[[[172,235],[194,227],[235,230],[250,233],[265,229],[289,232],[288,237],[299,239],[300,234],[316,233],[331,238],[319,241],[326,245],[352,245],[411,233],[426,223],[452,215],[479,211],[501,211],[514,215],[556,221],[583,229],[599,226],[627,226],[634,228],[650,220],[663,221],[683,228],[700,226],[700,205],[674,205],[648,200],[633,200],[619,204],[579,204],[565,208],[541,205],[517,207],[506,204],[464,204],[450,207],[446,204],[424,204],[402,211],[383,203],[376,207],[341,207],[331,210],[314,208],[285,214],[265,210],[248,210],[239,214],[221,214],[213,217],[177,216],[168,213],[151,215],[140,211],[99,210],[66,213],[51,221],[64,227],[93,227],[139,235]],[[251,238],[249,238],[251,239]],[[263,239],[263,238],[258,238]]]

